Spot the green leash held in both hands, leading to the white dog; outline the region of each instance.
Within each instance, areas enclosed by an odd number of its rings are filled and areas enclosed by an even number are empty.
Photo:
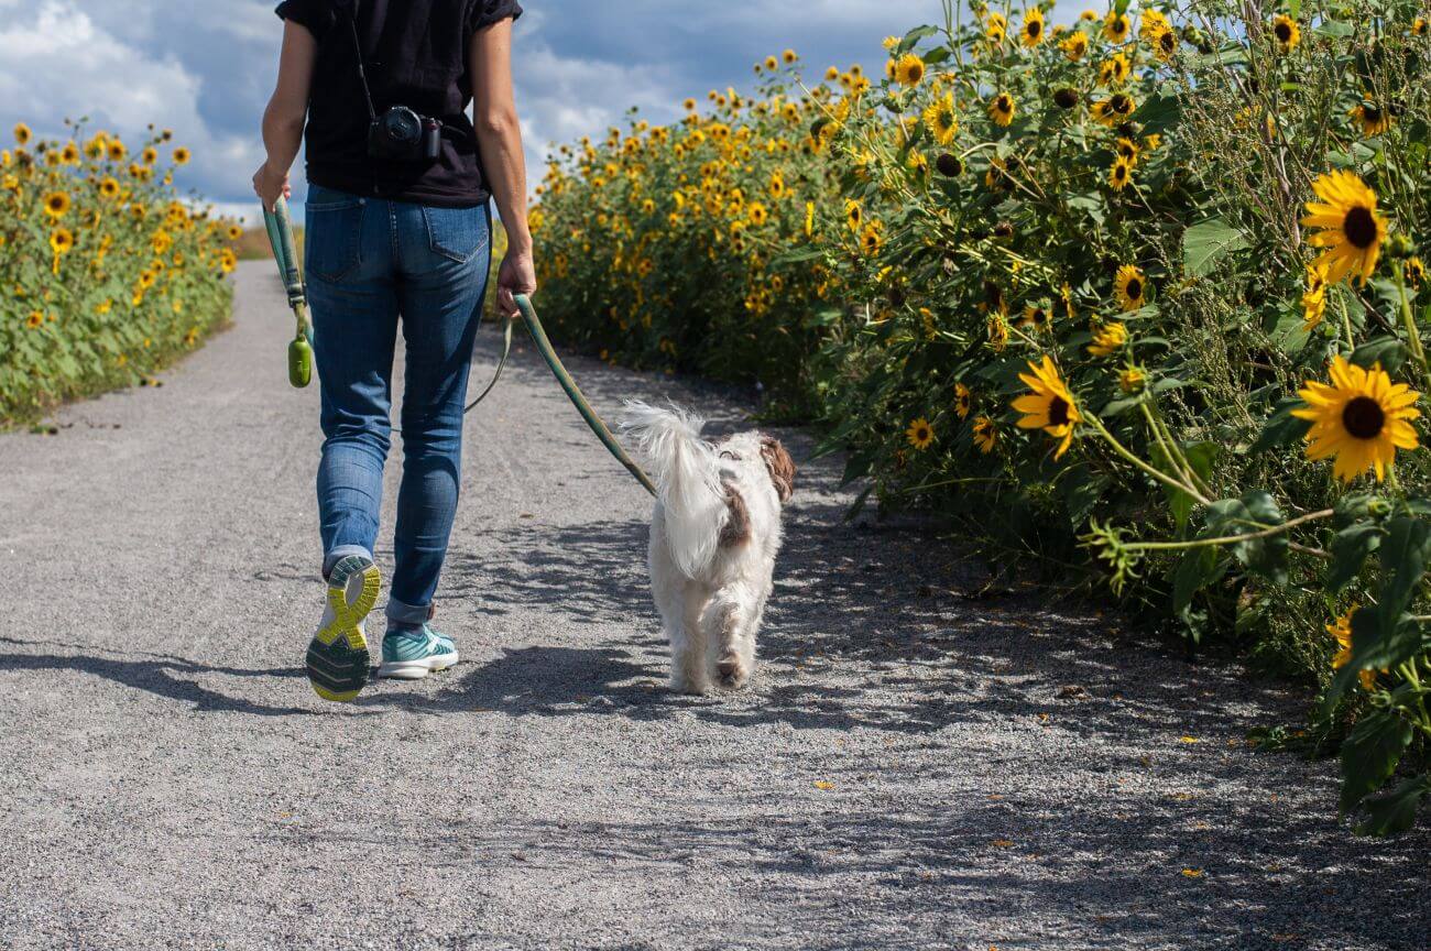
[[[278,207],[273,212],[263,210],[263,225],[268,229],[269,243],[273,246],[273,259],[278,262],[279,276],[283,280],[283,287],[288,290],[288,305],[293,309],[293,319],[298,325],[293,340],[288,345],[288,382],[296,388],[303,388],[313,378],[313,325],[308,317],[308,292],[303,287],[303,277],[298,269],[293,223],[289,219],[288,202],[285,199],[280,197],[278,200]],[[597,435],[601,445],[615,456],[617,462],[625,466],[627,472],[641,483],[641,488],[655,495],[655,483],[651,482],[651,476],[627,455],[627,450],[617,442],[617,438],[611,435],[611,429],[601,420],[597,410],[591,408],[581,388],[577,386],[577,380],[571,379],[571,373],[567,372],[561,358],[557,356],[557,350],[552,349],[551,340],[547,339],[547,330],[541,326],[541,319],[537,316],[537,309],[532,307],[531,297],[515,295],[515,299],[517,309],[527,323],[527,330],[532,335],[532,342],[537,345],[537,352],[547,360],[547,366],[557,378],[557,382],[561,383],[561,389],[565,390],[577,412],[587,422],[587,426]],[[497,362],[497,372],[492,373],[492,382],[464,409],[464,413],[472,412],[497,388],[497,382],[502,379],[502,370],[507,369],[507,359],[512,353],[512,325],[515,322],[515,317],[509,319],[502,332],[502,356]]]

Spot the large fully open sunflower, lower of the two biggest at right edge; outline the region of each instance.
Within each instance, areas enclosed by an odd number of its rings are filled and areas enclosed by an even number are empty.
[[[1331,386],[1307,380],[1298,390],[1307,405],[1292,410],[1298,419],[1312,422],[1307,458],[1335,456],[1332,475],[1342,482],[1367,469],[1375,469],[1381,482],[1387,466],[1395,462],[1397,449],[1417,448],[1417,430],[1410,420],[1421,416],[1415,408],[1421,393],[1405,383],[1392,383],[1379,363],[1367,370],[1335,356],[1329,373]]]

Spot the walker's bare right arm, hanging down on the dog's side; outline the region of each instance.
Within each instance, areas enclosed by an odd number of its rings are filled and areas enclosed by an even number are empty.
[[[474,126],[488,187],[507,229],[507,257],[497,272],[497,307],[517,316],[512,295],[537,292],[532,236],[527,229],[527,159],[512,93],[512,21],[499,20],[472,34]]]

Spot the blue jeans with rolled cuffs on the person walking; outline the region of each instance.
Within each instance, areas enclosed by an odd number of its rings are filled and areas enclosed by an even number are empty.
[[[323,576],[372,558],[392,445],[392,359],[406,345],[392,628],[424,624],[462,472],[462,405],[491,262],[491,210],[308,193],[305,275],[322,389],[318,512]]]

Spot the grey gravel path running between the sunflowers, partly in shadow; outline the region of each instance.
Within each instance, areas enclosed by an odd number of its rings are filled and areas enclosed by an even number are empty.
[[[269,266],[238,287],[162,389],[0,436],[0,947],[1431,948],[1427,824],[1355,839],[1335,764],[1244,742],[1298,698],[977,598],[916,529],[841,523],[829,465],[754,689],[668,695],[648,502],[529,350],[469,416],[465,662],[322,704],[316,390]]]

